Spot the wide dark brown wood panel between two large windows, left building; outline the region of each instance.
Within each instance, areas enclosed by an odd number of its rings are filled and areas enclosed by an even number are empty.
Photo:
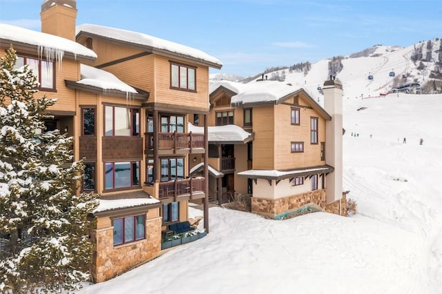
[[[142,160],[142,137],[103,137],[103,161]]]

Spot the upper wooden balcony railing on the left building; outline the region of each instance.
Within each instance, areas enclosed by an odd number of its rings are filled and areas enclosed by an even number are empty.
[[[145,133],[146,149],[155,148],[153,144],[153,133]],[[185,149],[204,148],[204,134],[195,133],[159,133],[158,149]]]

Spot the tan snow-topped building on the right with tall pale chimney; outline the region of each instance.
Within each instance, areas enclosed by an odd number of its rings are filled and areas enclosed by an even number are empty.
[[[318,210],[344,215],[343,89],[334,80],[323,88],[325,109],[304,89],[279,81],[213,84],[208,162],[223,175],[209,194],[227,194],[220,202],[251,195],[252,212],[274,219]],[[211,140],[213,126],[225,125],[251,137]]]

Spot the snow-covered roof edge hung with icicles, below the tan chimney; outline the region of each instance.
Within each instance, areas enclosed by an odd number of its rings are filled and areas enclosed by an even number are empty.
[[[64,56],[73,57],[75,59],[93,60],[97,55],[81,44],[58,37],[55,35],[28,30],[18,26],[11,26],[0,23],[0,45],[14,46],[15,50],[24,47],[27,50],[35,50],[39,56],[45,56],[51,61],[61,61]],[[35,46],[35,48],[30,48]]]

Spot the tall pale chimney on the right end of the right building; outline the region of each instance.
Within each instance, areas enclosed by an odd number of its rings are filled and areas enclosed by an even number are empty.
[[[334,167],[326,177],[327,204],[343,197],[343,86],[335,79],[323,86],[324,108],[332,116],[325,123],[325,163]]]

